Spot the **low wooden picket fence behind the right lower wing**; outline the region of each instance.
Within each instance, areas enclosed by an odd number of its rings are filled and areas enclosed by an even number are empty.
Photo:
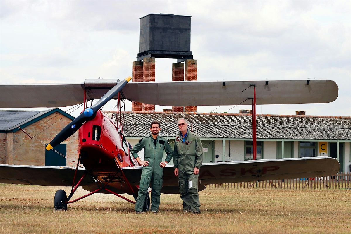
[[[206,185],[208,188],[256,188],[256,189],[351,189],[351,174],[316,178],[266,180],[259,182],[238,182]]]

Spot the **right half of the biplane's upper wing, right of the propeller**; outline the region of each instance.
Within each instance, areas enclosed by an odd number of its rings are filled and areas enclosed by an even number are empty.
[[[305,80],[267,81],[267,85],[266,81],[173,81],[130,83],[123,94],[131,101],[161,106],[251,105],[252,100],[246,100],[253,98],[250,85],[256,85],[257,105],[332,102],[339,90],[330,80],[310,80],[308,85]]]

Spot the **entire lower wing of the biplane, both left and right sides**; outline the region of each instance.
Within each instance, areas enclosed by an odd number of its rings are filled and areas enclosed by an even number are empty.
[[[126,178],[138,185],[142,167],[122,168]],[[324,157],[263,159],[255,161],[232,161],[204,163],[200,169],[199,190],[204,185],[215,183],[249,182],[263,180],[295,179],[335,175],[340,169],[338,160]],[[163,171],[162,193],[179,193],[178,178],[173,174],[173,166]],[[22,185],[71,186],[75,170],[69,167],[1,165],[0,183]],[[77,178],[85,173],[78,169]],[[80,186],[93,186],[92,176],[86,176]]]

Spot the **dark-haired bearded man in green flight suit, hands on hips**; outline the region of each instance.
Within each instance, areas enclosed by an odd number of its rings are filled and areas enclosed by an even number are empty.
[[[150,124],[150,136],[141,138],[133,147],[132,155],[143,166],[139,183],[139,192],[137,202],[135,203],[135,212],[142,213],[146,199],[147,189],[151,182],[151,212],[157,213],[160,206],[160,194],[162,188],[163,168],[172,159],[173,151],[166,138],[158,135],[161,125],[157,121]],[[138,152],[144,149],[144,161],[141,161]],[[166,151],[167,157],[165,162],[162,161],[163,151]]]

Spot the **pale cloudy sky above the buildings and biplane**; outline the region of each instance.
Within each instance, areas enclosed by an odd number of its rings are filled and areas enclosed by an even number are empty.
[[[139,53],[139,18],[151,13],[192,16],[198,81],[327,79],[339,87],[332,103],[259,105],[257,114],[351,116],[351,1],[1,0],[0,83],[131,76]],[[156,58],[155,80],[171,81],[174,62]],[[232,107],[216,112],[251,109]],[[165,108],[170,107],[155,111]]]

